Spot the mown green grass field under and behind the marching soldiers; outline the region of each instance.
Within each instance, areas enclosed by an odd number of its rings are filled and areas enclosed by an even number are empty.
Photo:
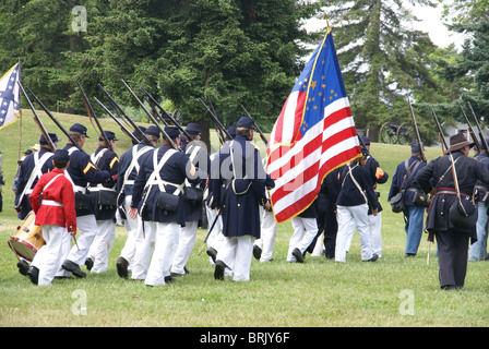
[[[50,132],[63,140],[61,132],[41,118]],[[24,110],[22,148],[37,143],[39,132],[31,113]],[[94,135],[88,120],[57,115],[68,129],[82,121]],[[117,132],[112,120],[103,120],[107,130]],[[305,264],[285,262],[289,222],[281,224],[274,261],[261,264],[253,260],[251,280],[216,281],[205,253],[198,255],[206,231],[199,230],[194,251],[188,263],[190,275],[159,288],[117,276],[116,260],[127,233],[117,228],[109,270],[88,274],[86,279],[56,280],[52,287],[39,288],[17,273],[16,258],[8,240],[21,224],[13,210],[12,179],[19,152],[19,125],[0,131],[3,155],[3,212],[0,214],[0,327],[485,327],[489,325],[486,262],[469,263],[465,289],[440,291],[436,245],[430,249],[422,237],[419,253],[404,257],[405,233],[401,215],[389,209],[386,196],[391,180],[379,186],[382,212],[382,258],[360,262],[358,234],[355,234],[346,264],[307,255]],[[117,132],[118,154],[130,146],[127,136]],[[95,149],[90,139],[87,153]],[[262,144],[257,137],[257,144]],[[398,163],[408,158],[409,147],[372,144],[372,155],[391,177]],[[428,159],[440,155],[428,148]]]

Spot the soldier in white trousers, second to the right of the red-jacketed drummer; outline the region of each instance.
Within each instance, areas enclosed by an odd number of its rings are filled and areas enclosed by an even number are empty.
[[[116,239],[116,208],[117,192],[116,181],[119,170],[119,158],[114,152],[116,146],[116,134],[111,131],[104,131],[109,144],[98,137],[98,148],[91,156],[92,163],[99,169],[110,172],[110,180],[105,183],[90,183],[90,196],[92,205],[96,207],[95,219],[98,232],[92,243],[88,257],[85,261],[86,268],[92,273],[107,272],[108,257]]]

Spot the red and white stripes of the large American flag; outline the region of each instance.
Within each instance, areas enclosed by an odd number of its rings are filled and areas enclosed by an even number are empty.
[[[278,222],[305,210],[324,177],[360,153],[348,98],[325,107],[324,121],[302,135],[298,131],[305,97],[305,93],[290,94],[269,144],[267,173],[275,180],[271,198]]]

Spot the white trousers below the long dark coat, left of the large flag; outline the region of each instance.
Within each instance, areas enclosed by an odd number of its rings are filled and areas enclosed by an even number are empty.
[[[249,281],[253,255],[253,236],[229,237],[217,251],[217,258],[232,268],[232,280]],[[226,275],[226,274],[225,274]]]

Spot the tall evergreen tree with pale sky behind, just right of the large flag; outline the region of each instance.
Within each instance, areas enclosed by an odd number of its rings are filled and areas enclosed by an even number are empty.
[[[434,5],[430,0],[414,4]],[[408,94],[437,91],[428,62],[434,45],[406,26],[416,17],[403,1],[333,1],[330,11],[345,85],[357,128],[377,140],[385,121],[410,120]]]

